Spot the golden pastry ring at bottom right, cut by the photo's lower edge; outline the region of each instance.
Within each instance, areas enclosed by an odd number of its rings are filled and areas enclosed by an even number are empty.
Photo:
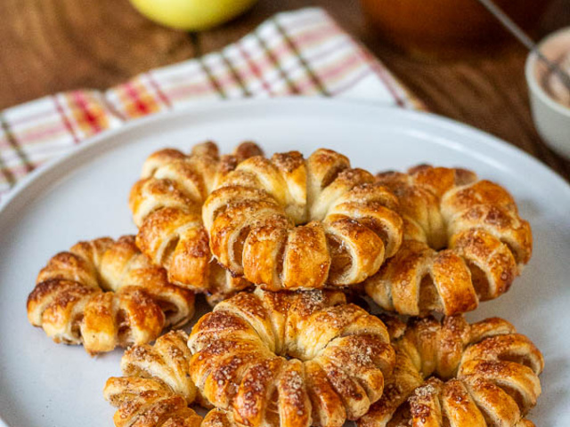
[[[358,427],[523,427],[541,394],[541,352],[501,318],[387,319],[394,374]]]

